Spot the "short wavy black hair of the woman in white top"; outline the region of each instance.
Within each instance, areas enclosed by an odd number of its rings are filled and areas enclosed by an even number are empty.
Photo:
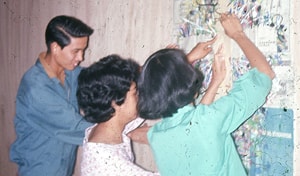
[[[139,65],[131,59],[110,55],[84,68],[78,77],[77,100],[88,122],[109,120],[117,105],[124,103],[132,82],[137,82]]]

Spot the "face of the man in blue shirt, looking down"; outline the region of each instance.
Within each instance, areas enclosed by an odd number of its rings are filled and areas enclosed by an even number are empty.
[[[88,37],[72,38],[69,45],[63,49],[57,48],[56,62],[66,70],[73,70],[83,61],[84,51],[88,44]]]

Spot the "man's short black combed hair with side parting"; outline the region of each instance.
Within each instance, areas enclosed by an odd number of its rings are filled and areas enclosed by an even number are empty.
[[[56,16],[48,23],[45,33],[47,52],[50,52],[52,42],[63,49],[71,42],[71,37],[89,37],[93,29],[77,18],[71,16]]]

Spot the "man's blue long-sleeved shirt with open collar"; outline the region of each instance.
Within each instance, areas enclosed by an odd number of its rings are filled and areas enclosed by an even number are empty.
[[[17,134],[10,158],[19,175],[72,175],[77,146],[91,126],[79,115],[76,99],[80,67],[65,71],[64,85],[49,78],[38,59],[23,76],[14,119]]]

